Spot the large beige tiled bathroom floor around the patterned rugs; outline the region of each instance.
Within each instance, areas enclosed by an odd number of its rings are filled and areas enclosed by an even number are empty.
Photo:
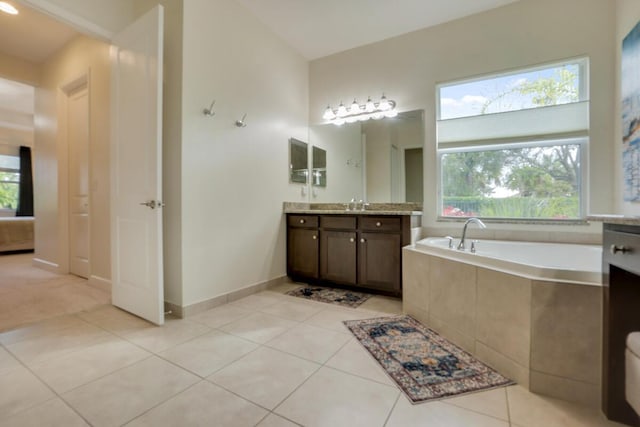
[[[0,426],[614,426],[519,386],[412,405],[342,325],[397,314],[291,284],[154,327],[112,306],[0,334]]]

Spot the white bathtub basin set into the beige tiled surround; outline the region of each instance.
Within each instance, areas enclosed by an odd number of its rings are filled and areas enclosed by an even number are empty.
[[[595,245],[476,240],[476,252],[449,249],[449,240],[428,237],[415,244],[421,252],[535,280],[602,283],[602,248]]]

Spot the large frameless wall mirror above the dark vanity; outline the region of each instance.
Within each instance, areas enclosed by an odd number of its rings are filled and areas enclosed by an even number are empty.
[[[326,151],[331,175],[326,187],[312,192],[311,201],[422,203],[422,110],[342,126],[311,126],[309,144]]]

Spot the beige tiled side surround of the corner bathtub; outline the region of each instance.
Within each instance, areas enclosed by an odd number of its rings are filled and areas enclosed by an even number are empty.
[[[599,406],[599,283],[500,271],[456,251],[403,251],[405,313],[532,392]]]

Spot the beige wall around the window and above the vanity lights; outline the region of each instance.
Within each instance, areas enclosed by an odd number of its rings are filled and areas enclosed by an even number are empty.
[[[400,111],[424,109],[423,224],[441,227],[442,224],[436,222],[435,204],[436,84],[564,58],[589,56],[589,211],[610,212],[614,205],[614,121],[611,114],[615,98],[614,34],[615,7],[609,1],[521,0],[437,27],[312,61],[310,122],[321,121],[327,103],[353,97],[366,99],[369,94],[381,92],[396,100]],[[354,69],[358,72],[353,73]],[[588,227],[556,226],[554,230],[582,233],[588,231]]]

